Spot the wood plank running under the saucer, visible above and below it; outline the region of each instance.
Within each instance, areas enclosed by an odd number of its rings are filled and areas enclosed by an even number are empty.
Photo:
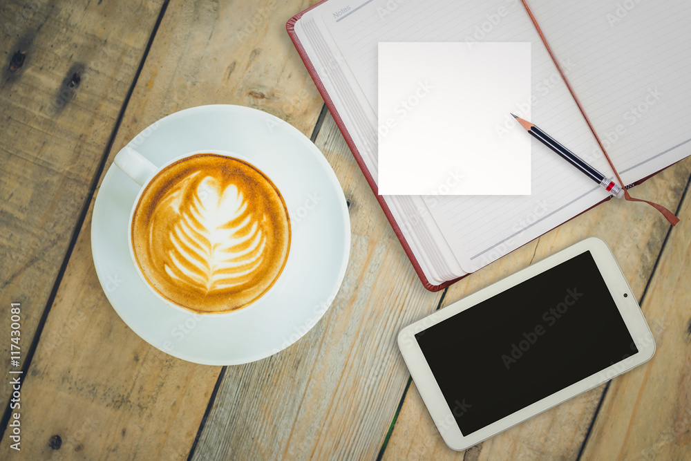
[[[285,33],[285,20],[306,7],[302,1],[277,5],[274,0],[170,3],[108,165],[147,125],[199,104],[255,106],[310,135],[323,102]],[[252,21],[254,30],[243,32]],[[122,26],[124,39],[136,23]],[[55,208],[64,212],[57,204]],[[27,436],[22,455],[186,459],[220,367],[169,357],[120,320],[93,269],[91,213],[89,209],[21,390],[26,402],[21,424]],[[49,446],[50,440],[57,446],[55,436],[61,440],[57,450]],[[3,438],[0,458],[9,458],[9,451]]]

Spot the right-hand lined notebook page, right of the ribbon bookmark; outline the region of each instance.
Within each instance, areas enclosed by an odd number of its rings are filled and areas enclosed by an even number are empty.
[[[528,4],[626,184],[691,154],[691,2]]]

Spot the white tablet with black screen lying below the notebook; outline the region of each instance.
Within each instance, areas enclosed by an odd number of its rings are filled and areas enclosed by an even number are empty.
[[[407,326],[398,344],[444,442],[464,450],[652,357],[655,341],[599,238]]]

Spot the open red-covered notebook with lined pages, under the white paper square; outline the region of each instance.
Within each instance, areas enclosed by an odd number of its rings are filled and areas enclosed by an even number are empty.
[[[690,2],[527,3],[625,186],[691,154]],[[287,30],[375,194],[380,41],[531,42],[531,122],[613,176],[521,1],[328,0]],[[438,290],[609,196],[532,140],[530,196],[377,198]]]

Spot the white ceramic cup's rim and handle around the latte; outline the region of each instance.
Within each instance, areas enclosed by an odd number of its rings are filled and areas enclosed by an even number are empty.
[[[140,276],[140,279],[144,282],[144,285],[146,285],[147,288],[149,288],[149,291],[151,291],[153,294],[155,294],[158,299],[166,303],[167,305],[171,306],[172,308],[175,308],[176,310],[180,310],[182,312],[187,312],[188,314],[200,314],[200,315],[229,315],[229,314],[235,314],[240,311],[245,311],[248,308],[251,308],[252,305],[256,303],[258,299],[261,299],[262,297],[265,297],[268,292],[274,289],[276,286],[276,281],[274,281],[274,284],[267,290],[264,294],[261,295],[261,297],[258,297],[252,303],[249,303],[248,305],[245,305],[243,308],[239,308],[236,310],[231,310],[230,312],[221,312],[221,313],[215,313],[215,312],[193,312],[191,310],[188,310],[181,305],[178,305],[174,303],[173,301],[170,301],[169,299],[164,298],[158,291],[156,291],[153,286],[149,283],[149,281],[146,280],[144,277],[144,273],[142,272],[142,268],[139,266],[139,263],[137,263],[137,260],[134,256],[134,246],[132,243],[132,220],[134,218],[134,212],[135,209],[137,209],[137,205],[139,204],[140,199],[142,198],[142,193],[146,189],[146,186],[149,185],[149,182],[158,174],[159,171],[164,169],[165,167],[178,162],[179,160],[183,160],[184,158],[188,158],[191,156],[194,156],[199,153],[214,153],[218,154],[221,156],[226,156],[229,158],[234,158],[237,160],[243,160],[243,162],[247,162],[248,164],[252,165],[252,167],[258,169],[259,171],[262,171],[263,173],[265,170],[263,170],[261,167],[258,167],[254,162],[250,162],[247,160],[247,158],[243,156],[239,156],[236,153],[232,153],[229,151],[220,151],[218,149],[205,149],[202,151],[194,151],[194,152],[188,152],[185,153],[182,156],[173,158],[173,160],[170,160],[166,164],[162,165],[161,167],[155,166],[155,164],[151,163],[148,159],[146,159],[142,154],[140,154],[138,151],[133,149],[129,144],[120,149],[120,152],[118,152],[115,155],[115,159],[113,159],[113,163],[117,165],[118,168],[120,168],[124,173],[132,178],[135,182],[137,182],[138,185],[141,186],[141,189],[139,191],[139,194],[137,195],[137,198],[134,201],[134,205],[132,206],[132,209],[130,211],[130,216],[129,216],[129,221],[127,225],[127,243],[129,245],[129,250],[130,250],[130,259],[132,261],[132,264],[135,267],[135,270]],[[266,173],[265,173],[266,174]],[[289,252],[290,255],[290,252]],[[285,270],[285,267],[284,267]],[[282,272],[281,272],[282,273]],[[280,275],[278,276],[280,278]]]

